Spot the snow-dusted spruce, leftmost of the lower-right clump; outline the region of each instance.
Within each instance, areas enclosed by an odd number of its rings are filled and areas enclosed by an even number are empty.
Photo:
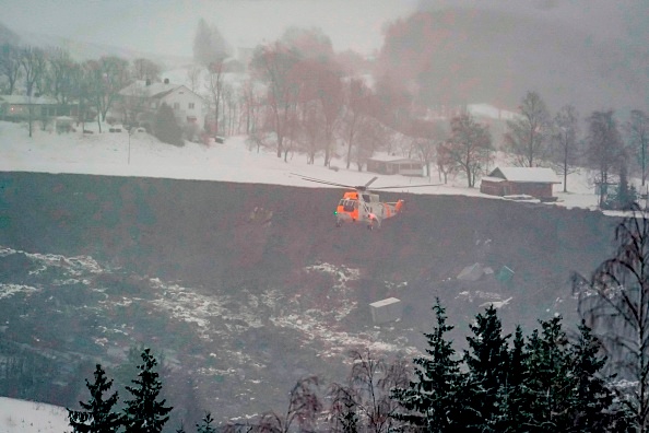
[[[392,390],[392,398],[404,409],[394,418],[426,432],[457,432],[464,424],[458,395],[462,375],[452,343],[445,338],[453,327],[446,325],[446,311],[439,300],[433,311],[437,326],[432,333],[425,333],[428,356],[413,360],[416,382]]]

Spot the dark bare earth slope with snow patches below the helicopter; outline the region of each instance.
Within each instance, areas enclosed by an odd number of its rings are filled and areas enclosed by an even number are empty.
[[[405,212],[375,232],[337,229],[340,192],[3,173],[0,288],[14,291],[0,294],[5,341],[115,365],[151,343],[181,384],[175,406],[232,417],[283,407],[302,374],[343,379],[331,360],[349,347],[424,349],[436,296],[459,343],[485,302],[504,303],[506,329],[555,312],[574,323],[570,273],[611,251],[614,221],[599,212],[495,199],[385,195],[404,197]],[[475,262],[514,278],[459,282]],[[386,296],[406,314],[378,328],[367,304]],[[80,391],[68,385],[61,401],[48,389],[42,398],[58,403]],[[214,407],[219,398],[227,403]]]

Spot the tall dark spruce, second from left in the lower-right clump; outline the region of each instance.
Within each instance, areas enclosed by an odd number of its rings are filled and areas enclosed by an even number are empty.
[[[468,337],[470,351],[464,351],[467,375],[464,407],[469,409],[464,422],[482,432],[499,431],[497,426],[502,398],[505,397],[509,353],[507,339],[496,308],[489,306],[484,315],[475,316],[470,325],[473,337]]]

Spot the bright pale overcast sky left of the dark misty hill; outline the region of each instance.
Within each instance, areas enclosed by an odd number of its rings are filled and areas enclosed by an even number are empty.
[[[275,40],[291,25],[320,27],[334,50],[380,48],[385,22],[412,13],[417,0],[0,0],[11,30],[192,55],[198,21],[216,25],[233,46]]]

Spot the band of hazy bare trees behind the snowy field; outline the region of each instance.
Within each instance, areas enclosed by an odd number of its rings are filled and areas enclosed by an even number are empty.
[[[398,78],[350,52],[334,52],[319,30],[292,27],[278,40],[259,45],[238,86],[226,75],[243,72],[245,66],[237,67],[231,51],[215,27],[199,23],[197,66],[187,74],[210,113],[204,128],[212,134],[247,134],[251,149],[273,149],[285,161],[299,153],[311,164],[321,156],[328,166],[333,157],[342,157],[346,168],[355,164],[362,171],[382,151],[422,161],[428,176],[436,166],[444,182],[460,174],[474,187],[500,150],[515,165],[553,167],[563,177],[564,191],[568,174],[579,167],[592,169],[602,208],[625,208],[634,201],[638,188],[629,183],[632,175],[640,178],[642,191],[646,188],[649,116],[641,109],[632,110],[624,121],[613,109],[581,118],[573,105],[552,115],[541,95],[530,91],[505,121],[502,142],[495,142],[492,120],[465,107],[450,118],[432,116]],[[0,52],[0,74],[7,78],[9,94],[22,82],[27,95],[47,94],[62,105],[75,101],[81,117],[92,110],[97,120],[105,120],[121,89],[133,80],[158,80],[161,67],[148,59],[129,63],[118,57],[78,63],[62,49],[8,44]],[[121,107],[125,121],[133,121],[135,108]],[[155,122],[168,127],[170,117],[163,113]],[[162,133],[172,137],[165,141],[181,143],[179,128]],[[186,131],[185,138],[190,136],[196,131]],[[618,185],[615,196],[611,184]]]

